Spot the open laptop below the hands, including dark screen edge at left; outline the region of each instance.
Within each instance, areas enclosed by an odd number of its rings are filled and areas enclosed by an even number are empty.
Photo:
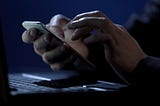
[[[1,24],[0,24],[1,25]],[[2,25],[0,27],[0,104],[17,101],[52,101],[68,96],[100,95],[119,91],[126,84],[97,80],[76,71],[9,73]],[[27,69],[28,70],[28,69]],[[90,75],[91,76],[91,75]]]

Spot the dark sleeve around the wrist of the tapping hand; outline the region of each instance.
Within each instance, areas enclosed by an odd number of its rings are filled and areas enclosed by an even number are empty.
[[[141,60],[131,76],[136,87],[158,87],[160,84],[160,58],[148,56]]]

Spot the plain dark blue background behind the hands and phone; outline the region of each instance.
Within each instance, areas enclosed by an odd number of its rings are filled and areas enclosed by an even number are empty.
[[[125,24],[133,13],[140,13],[147,0],[1,0],[0,17],[6,46],[7,63],[12,68],[47,68],[32,45],[22,42],[24,20],[48,23],[55,14],[73,18],[75,15],[100,10],[113,22]]]

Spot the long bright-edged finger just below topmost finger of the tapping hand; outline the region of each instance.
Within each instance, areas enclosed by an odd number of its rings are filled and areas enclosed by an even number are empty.
[[[101,33],[109,34],[112,36],[112,40],[118,44],[121,31],[115,26],[110,20],[104,17],[85,17],[70,23],[71,27],[74,29],[79,29],[83,27],[92,27],[93,30],[100,30]],[[74,35],[75,38],[76,35]]]

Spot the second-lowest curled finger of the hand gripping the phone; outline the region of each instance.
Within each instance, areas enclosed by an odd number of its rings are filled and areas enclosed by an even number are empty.
[[[53,64],[65,60],[70,55],[71,52],[66,46],[59,46],[51,51],[44,53],[42,55],[42,59],[47,64]]]

